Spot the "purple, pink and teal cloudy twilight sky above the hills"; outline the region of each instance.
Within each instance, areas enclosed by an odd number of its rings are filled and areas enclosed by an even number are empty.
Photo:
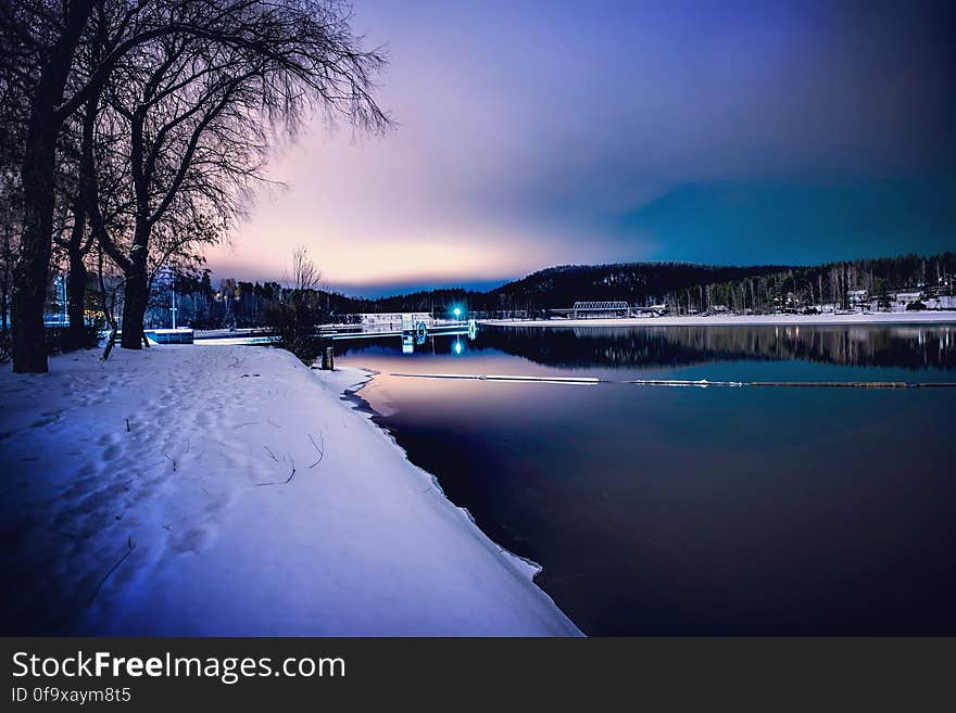
[[[483,289],[563,264],[956,250],[956,5],[354,0],[381,137],[315,117],[217,277]]]

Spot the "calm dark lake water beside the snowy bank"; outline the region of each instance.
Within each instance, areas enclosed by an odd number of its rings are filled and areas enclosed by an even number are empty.
[[[956,326],[505,329],[341,347],[410,458],[588,634],[956,634]]]

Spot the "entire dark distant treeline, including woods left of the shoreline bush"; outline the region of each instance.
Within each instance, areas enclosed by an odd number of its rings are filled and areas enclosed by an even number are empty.
[[[861,298],[889,307],[891,294],[911,291],[926,296],[953,294],[956,253],[902,255],[794,267],[759,265],[713,267],[688,263],[617,263],[565,265],[533,272],[487,292],[442,289],[367,300],[314,290],[323,315],[348,320],[363,313],[430,311],[443,316],[456,305],[469,314],[543,315],[576,301],[621,300],[638,307],[667,305],[675,314],[840,309]],[[176,293],[183,323],[196,327],[263,323],[269,304],[289,290],[277,282],[222,280],[213,287],[209,270],[178,277]],[[155,290],[147,322],[168,319],[171,291]]]

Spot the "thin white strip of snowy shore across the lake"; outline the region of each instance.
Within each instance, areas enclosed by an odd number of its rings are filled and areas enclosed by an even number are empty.
[[[956,323],[956,311],[879,311],[823,315],[708,315],[608,319],[481,320],[505,327],[697,327],[747,324],[933,324]]]

